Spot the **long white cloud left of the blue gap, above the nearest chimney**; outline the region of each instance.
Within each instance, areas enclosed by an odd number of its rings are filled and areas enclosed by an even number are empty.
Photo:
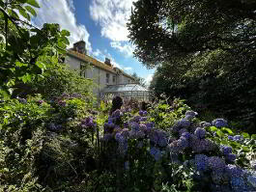
[[[41,8],[37,10],[38,16],[33,19],[36,25],[42,27],[45,22],[59,23],[61,29],[67,29],[71,32],[70,47],[75,41],[83,40],[86,42],[87,50],[92,52],[89,41],[90,34],[84,25],[76,22],[72,0],[39,0],[38,2]]]

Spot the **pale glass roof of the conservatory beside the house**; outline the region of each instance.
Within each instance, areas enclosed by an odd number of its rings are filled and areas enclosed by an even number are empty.
[[[146,88],[139,84],[122,84],[122,85],[109,85],[104,88],[102,93],[118,93],[118,92],[149,92]]]

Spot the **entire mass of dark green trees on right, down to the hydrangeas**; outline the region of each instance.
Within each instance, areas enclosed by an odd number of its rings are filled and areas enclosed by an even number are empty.
[[[156,96],[183,97],[255,131],[255,7],[241,0],[134,3],[129,38],[135,56],[158,67]]]

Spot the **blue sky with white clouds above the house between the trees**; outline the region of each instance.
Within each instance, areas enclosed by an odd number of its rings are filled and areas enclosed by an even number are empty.
[[[33,22],[59,23],[71,32],[71,46],[84,40],[88,54],[111,63],[128,73],[136,72],[149,83],[155,69],[146,69],[132,51],[126,23],[135,0],[38,0],[41,8]]]

